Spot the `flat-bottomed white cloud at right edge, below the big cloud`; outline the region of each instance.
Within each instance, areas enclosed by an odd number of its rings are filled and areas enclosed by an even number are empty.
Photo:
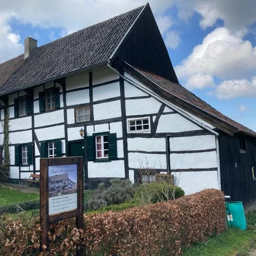
[[[241,96],[256,95],[256,76],[251,81],[247,79],[224,80],[216,88],[218,99],[233,99]]]

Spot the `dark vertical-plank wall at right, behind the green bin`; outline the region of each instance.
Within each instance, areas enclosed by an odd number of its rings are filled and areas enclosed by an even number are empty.
[[[219,138],[221,189],[230,195],[230,201],[242,201],[244,205],[256,200],[256,180],[252,167],[256,168],[256,140],[244,136],[246,152],[240,153],[239,136],[221,134]]]

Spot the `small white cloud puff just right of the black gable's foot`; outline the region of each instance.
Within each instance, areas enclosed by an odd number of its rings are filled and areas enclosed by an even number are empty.
[[[215,84],[212,76],[198,73],[189,76],[185,87],[188,89],[204,89],[205,87],[215,87]]]

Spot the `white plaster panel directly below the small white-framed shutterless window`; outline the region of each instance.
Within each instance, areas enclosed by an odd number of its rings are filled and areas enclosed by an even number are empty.
[[[166,151],[165,138],[128,138],[128,150]]]

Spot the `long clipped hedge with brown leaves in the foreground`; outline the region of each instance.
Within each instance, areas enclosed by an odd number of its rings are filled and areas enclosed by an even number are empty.
[[[169,255],[181,248],[224,231],[224,194],[205,189],[193,195],[122,212],[84,217],[85,230],[70,219],[52,224],[50,251],[44,255],[76,255],[79,247],[87,255]],[[3,227],[4,226],[4,227]],[[0,230],[0,255],[43,255],[39,253],[38,220],[4,221]]]

